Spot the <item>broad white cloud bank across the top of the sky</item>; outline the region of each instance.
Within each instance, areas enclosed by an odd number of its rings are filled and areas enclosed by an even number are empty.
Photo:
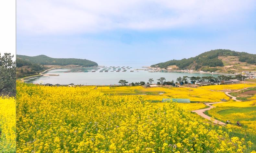
[[[94,33],[242,22],[254,7],[251,0],[19,0],[17,33]]]

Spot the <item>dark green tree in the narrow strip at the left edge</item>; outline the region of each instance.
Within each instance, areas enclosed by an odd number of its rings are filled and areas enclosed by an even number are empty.
[[[16,96],[16,63],[10,53],[0,54],[0,96]]]

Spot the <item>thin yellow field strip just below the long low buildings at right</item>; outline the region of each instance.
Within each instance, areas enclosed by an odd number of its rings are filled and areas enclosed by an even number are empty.
[[[222,91],[222,90],[239,90],[239,89],[243,89],[246,87],[253,87],[253,86],[256,86],[256,83],[221,84],[221,85],[202,86],[198,88]]]

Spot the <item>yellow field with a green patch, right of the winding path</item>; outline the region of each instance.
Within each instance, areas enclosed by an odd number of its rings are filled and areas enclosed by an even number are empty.
[[[214,104],[216,106],[212,110],[208,110],[208,114],[217,120],[225,122],[230,120],[232,125],[227,128],[232,130],[234,135],[243,136],[256,143],[256,100],[244,102],[225,102]],[[238,127],[235,123],[239,121],[242,127]],[[256,149],[254,145],[253,149]]]

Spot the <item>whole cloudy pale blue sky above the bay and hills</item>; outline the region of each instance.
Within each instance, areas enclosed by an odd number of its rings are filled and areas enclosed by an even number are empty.
[[[256,54],[254,0],[19,0],[17,54],[149,66],[214,49]]]

